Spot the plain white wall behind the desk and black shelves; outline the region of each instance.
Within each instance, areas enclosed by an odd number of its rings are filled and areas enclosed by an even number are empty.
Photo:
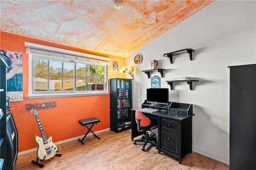
[[[186,48],[195,50],[193,61],[188,54],[174,57],[173,64],[162,57]],[[139,65],[133,62],[136,54],[143,57]],[[152,59],[166,69],[161,88],[170,89],[166,81],[173,77],[199,78],[194,90],[186,83],[176,83],[174,90],[169,90],[169,100],[193,104],[192,150],[229,164],[228,66],[256,63],[256,2],[213,2],[127,57],[126,66],[135,66],[134,107],[146,99],[150,79],[142,70],[150,69]],[[160,73],[151,72],[153,75]]]

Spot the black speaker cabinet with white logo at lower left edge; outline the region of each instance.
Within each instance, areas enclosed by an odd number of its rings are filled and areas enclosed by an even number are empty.
[[[6,116],[6,129],[7,129],[7,158],[6,169],[14,170],[16,160],[18,159],[18,131],[12,117],[12,113]]]

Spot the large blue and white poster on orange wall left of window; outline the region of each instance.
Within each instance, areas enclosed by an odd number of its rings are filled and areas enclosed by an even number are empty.
[[[1,50],[1,57],[9,66],[6,70],[7,96],[14,101],[22,101],[22,53]]]

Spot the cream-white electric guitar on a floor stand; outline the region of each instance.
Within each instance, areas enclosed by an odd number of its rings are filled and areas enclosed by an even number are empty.
[[[49,137],[49,139],[46,139],[46,136],[44,134],[43,127],[41,125],[41,122],[38,117],[38,113],[36,109],[32,109],[31,113],[36,116],[36,121],[38,124],[38,127],[40,129],[42,137],[35,137],[35,142],[38,146],[37,148],[37,157],[43,161],[52,158],[54,155],[57,154],[58,149],[57,146],[52,142],[52,137]],[[61,154],[60,154],[61,155]]]

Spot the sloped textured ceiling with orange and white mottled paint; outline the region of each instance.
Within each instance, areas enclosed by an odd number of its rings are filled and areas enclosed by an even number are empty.
[[[128,57],[214,1],[1,0],[1,31]]]

